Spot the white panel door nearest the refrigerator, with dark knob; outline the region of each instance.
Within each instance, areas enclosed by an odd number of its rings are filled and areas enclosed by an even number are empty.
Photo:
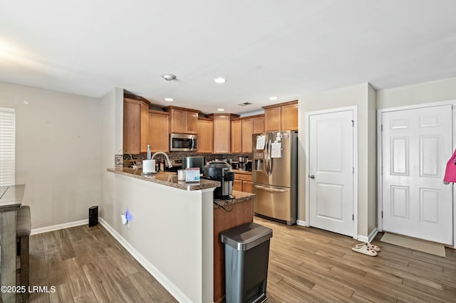
[[[353,110],[309,116],[309,225],[353,236]]]

